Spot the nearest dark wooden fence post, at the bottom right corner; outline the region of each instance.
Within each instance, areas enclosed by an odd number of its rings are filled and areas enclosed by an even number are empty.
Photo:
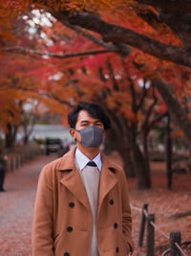
[[[180,256],[180,250],[176,244],[181,243],[181,234],[180,231],[171,231],[170,232],[170,255],[171,256]]]

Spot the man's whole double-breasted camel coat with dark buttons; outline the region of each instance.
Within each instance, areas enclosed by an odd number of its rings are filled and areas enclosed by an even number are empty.
[[[74,151],[40,173],[32,225],[33,256],[90,255],[92,213]],[[126,177],[103,153],[101,159],[96,217],[99,256],[126,256],[134,249]]]

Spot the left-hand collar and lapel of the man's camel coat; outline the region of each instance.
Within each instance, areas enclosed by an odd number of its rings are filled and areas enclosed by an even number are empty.
[[[84,188],[83,182],[77,170],[77,167],[74,162],[74,148],[72,151],[69,151],[65,154],[60,162],[58,171],[66,172],[60,182],[77,198],[86,208],[90,209],[89,200]],[[70,171],[70,172],[69,172]]]

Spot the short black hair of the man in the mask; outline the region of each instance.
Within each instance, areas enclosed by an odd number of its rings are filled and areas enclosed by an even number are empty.
[[[98,119],[105,129],[110,128],[110,119],[104,113],[103,109],[100,105],[96,105],[94,103],[82,102],[74,107],[74,109],[68,115],[68,123],[71,128],[75,128],[75,124],[77,122],[78,113],[81,110],[86,110],[91,117]]]

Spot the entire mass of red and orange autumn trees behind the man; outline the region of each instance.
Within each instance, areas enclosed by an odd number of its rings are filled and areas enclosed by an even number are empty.
[[[126,175],[138,177],[138,188],[150,188],[153,134],[167,125],[168,113],[174,133],[167,136],[180,134],[191,145],[191,4],[179,4],[1,0],[6,147],[13,148],[19,127],[28,143],[45,109],[66,117],[78,102],[93,101],[112,120],[105,151],[118,151]]]

